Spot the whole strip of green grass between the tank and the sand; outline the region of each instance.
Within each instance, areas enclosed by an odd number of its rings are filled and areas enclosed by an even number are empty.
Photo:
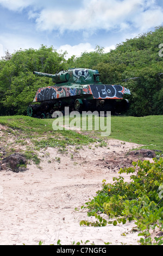
[[[54,131],[52,129],[53,121],[54,119],[35,119],[21,115],[0,117],[0,124],[8,126],[8,131],[12,133],[14,130],[17,141],[21,141],[21,138],[30,138],[38,148],[64,148],[66,145],[90,144],[106,139],[106,137],[101,137],[100,131],[81,131],[81,133],[72,130]],[[163,151],[162,123],[163,115],[112,116],[111,134],[107,138],[143,144],[146,145],[144,148]]]

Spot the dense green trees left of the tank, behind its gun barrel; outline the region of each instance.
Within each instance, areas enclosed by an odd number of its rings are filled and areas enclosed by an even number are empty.
[[[1,114],[26,114],[37,89],[52,84],[49,78],[38,78],[33,71],[54,74],[64,68],[64,54],[53,47],[41,46],[17,51],[9,60],[0,61],[0,111]]]

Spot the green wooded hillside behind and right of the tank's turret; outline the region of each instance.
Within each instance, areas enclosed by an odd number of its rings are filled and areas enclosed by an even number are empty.
[[[163,113],[163,57],[159,56],[163,27],[139,35],[117,45],[115,50],[104,53],[97,48],[95,54],[84,53],[75,65],[96,68],[101,81],[106,84],[122,84],[131,90],[128,115],[145,116]],[[97,54],[98,53],[98,54]],[[140,77],[134,80],[127,78]]]

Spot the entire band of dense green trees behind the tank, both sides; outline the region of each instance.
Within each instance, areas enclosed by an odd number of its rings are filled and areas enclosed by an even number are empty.
[[[52,84],[51,79],[35,77],[33,71],[55,74],[61,69],[98,69],[101,82],[122,84],[131,90],[128,115],[145,116],[163,113],[163,57],[159,56],[159,45],[163,44],[163,27],[156,28],[104,53],[97,46],[94,52],[84,52],[79,58],[65,59],[65,52],[57,53],[52,47],[41,46],[39,50],[29,48],[0,60],[0,113],[26,114],[36,90]],[[140,77],[134,80],[127,78]]]

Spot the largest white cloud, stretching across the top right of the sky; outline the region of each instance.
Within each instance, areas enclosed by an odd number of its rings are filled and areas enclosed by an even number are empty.
[[[134,22],[141,27],[145,20],[148,26],[155,26],[155,20],[146,21],[148,13],[152,16],[163,16],[163,10],[155,0],[83,0],[83,6],[76,10],[61,8],[44,8],[36,18],[37,27],[41,30],[66,29],[70,31],[96,31],[97,29],[127,29]],[[162,19],[160,18],[160,22]]]

